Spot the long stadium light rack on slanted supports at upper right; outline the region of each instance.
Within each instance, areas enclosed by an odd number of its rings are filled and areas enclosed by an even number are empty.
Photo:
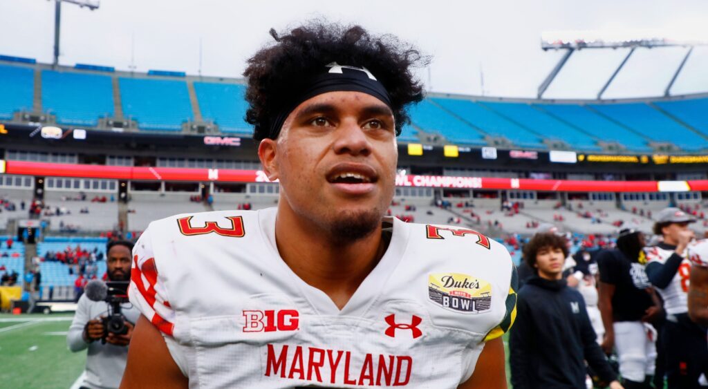
[[[674,71],[671,81],[669,81],[666,89],[664,89],[664,95],[668,96],[673,83],[678,78],[678,74],[683,69],[683,65],[686,63],[691,52],[693,52],[693,47],[708,45],[707,40],[695,39],[695,37],[683,37],[680,39],[666,37],[664,33],[651,31],[651,30],[638,30],[638,31],[617,31],[617,32],[597,32],[597,31],[556,31],[549,33],[542,33],[541,35],[541,49],[547,50],[566,50],[566,54],[559,60],[559,62],[554,66],[552,71],[546,76],[546,79],[538,87],[537,98],[542,98],[543,93],[551,85],[553,80],[559,74],[563,66],[568,62],[571,54],[576,50],[583,49],[619,49],[619,48],[629,48],[629,52],[619,63],[619,66],[612,72],[610,79],[605,82],[603,88],[598,92],[598,100],[603,98],[603,94],[607,91],[612,81],[615,80],[619,71],[622,70],[624,64],[627,63],[629,57],[632,56],[634,50],[637,47],[688,47],[683,60],[678,66],[678,69]]]

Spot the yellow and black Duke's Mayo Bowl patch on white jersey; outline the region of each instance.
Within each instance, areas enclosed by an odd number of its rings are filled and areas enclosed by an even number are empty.
[[[491,284],[467,274],[428,274],[428,298],[448,310],[484,313],[491,309]]]

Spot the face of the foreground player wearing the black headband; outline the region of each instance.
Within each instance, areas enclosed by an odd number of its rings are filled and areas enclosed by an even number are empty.
[[[268,177],[280,180],[281,206],[337,240],[374,231],[393,198],[394,116],[366,93],[330,92],[305,101],[258,153]]]

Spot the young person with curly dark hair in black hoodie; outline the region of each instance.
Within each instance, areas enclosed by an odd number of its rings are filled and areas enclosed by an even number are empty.
[[[596,342],[583,296],[563,279],[567,256],[566,241],[554,233],[537,233],[524,247],[536,275],[518,293],[510,334],[514,389],[586,388],[584,361],[611,389],[622,388]]]

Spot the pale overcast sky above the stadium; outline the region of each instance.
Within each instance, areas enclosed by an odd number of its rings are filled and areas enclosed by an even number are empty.
[[[54,0],[0,0],[0,54],[51,63],[54,8]],[[429,90],[467,95],[535,97],[562,54],[541,50],[549,30],[651,29],[708,40],[705,0],[101,0],[96,11],[63,4],[59,63],[240,77],[269,28],[317,16],[399,35],[433,55],[418,72]],[[686,51],[636,50],[605,98],[662,95]],[[626,53],[576,52],[544,97],[594,98]],[[706,69],[708,47],[697,47],[673,94],[708,91]]]

